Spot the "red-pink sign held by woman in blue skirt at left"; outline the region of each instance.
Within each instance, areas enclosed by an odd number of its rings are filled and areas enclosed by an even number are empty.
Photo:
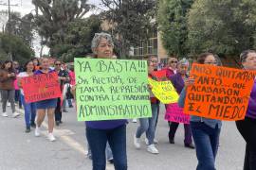
[[[26,102],[61,97],[57,73],[26,76],[21,79]]]

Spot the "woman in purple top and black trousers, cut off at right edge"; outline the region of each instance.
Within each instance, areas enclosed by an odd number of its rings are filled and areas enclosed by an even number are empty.
[[[256,71],[256,51],[241,53],[240,60],[244,69]],[[247,142],[244,170],[256,169],[256,79],[250,93],[247,115],[244,120],[236,121],[236,127]]]

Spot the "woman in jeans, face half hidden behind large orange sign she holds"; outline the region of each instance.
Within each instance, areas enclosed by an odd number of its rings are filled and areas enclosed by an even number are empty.
[[[197,59],[200,64],[221,65],[217,56],[211,53],[203,53]],[[180,93],[178,105],[184,108],[186,89],[192,86],[194,79],[185,80],[185,87]],[[222,123],[220,120],[191,116],[192,138],[195,144],[198,160],[196,170],[215,170],[215,158],[217,155],[219,136]]]

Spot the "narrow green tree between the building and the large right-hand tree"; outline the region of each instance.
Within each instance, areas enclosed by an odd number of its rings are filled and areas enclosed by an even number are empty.
[[[193,0],[159,0],[157,23],[169,55],[182,57],[189,53],[186,15]]]

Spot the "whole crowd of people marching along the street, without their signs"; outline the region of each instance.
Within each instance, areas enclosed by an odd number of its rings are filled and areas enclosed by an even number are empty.
[[[95,59],[115,59],[113,55],[114,42],[109,34],[97,33],[92,40],[92,51]],[[157,57],[148,57],[148,76],[155,79],[152,74],[157,70]],[[240,55],[241,66],[245,70],[256,70],[256,51],[246,50]],[[15,65],[16,63],[16,65]],[[197,59],[199,64],[208,64],[222,66],[221,60],[217,55],[212,53],[203,53]],[[15,101],[20,102],[25,110],[26,132],[30,131],[30,127],[35,127],[35,136],[40,136],[40,127],[47,114],[48,117],[48,139],[55,141],[53,135],[54,125],[62,124],[62,111],[64,110],[65,101],[63,97],[47,99],[34,103],[25,101],[25,94],[21,83],[24,76],[42,75],[56,72],[59,76],[60,88],[63,93],[67,90],[76,91],[75,76],[73,68],[66,69],[61,60],[54,61],[54,68],[51,68],[46,58],[31,59],[26,62],[23,70],[17,66],[17,62],[5,61],[0,71],[0,89],[2,96],[2,116],[7,117],[7,104],[10,103],[12,117],[19,116],[15,110]],[[192,86],[194,79],[188,75],[190,62],[187,59],[170,58],[166,69],[166,77],[173,83],[177,93],[179,93],[178,105],[183,108],[186,98],[186,91]],[[18,88],[15,90],[15,83]],[[71,84],[71,86],[69,86]],[[152,154],[158,154],[159,151],[155,144],[155,129],[157,128],[157,119],[159,113],[159,104],[155,95],[150,91],[150,101],[152,109],[152,117],[139,118],[137,130],[134,132],[134,146],[140,149],[140,138],[143,133],[146,134],[147,151]],[[16,95],[16,100],[15,100]],[[72,95],[68,93],[68,95]],[[64,94],[64,99],[67,95]],[[72,96],[67,97],[69,107]],[[63,103],[63,104],[62,104]],[[21,105],[20,105],[21,107]],[[134,120],[135,121],[135,120]],[[90,158],[92,159],[94,170],[104,170],[106,160],[114,163],[116,170],[126,170],[127,152],[126,152],[126,126],[127,120],[108,120],[108,121],[87,121],[85,122],[86,139],[90,150]],[[174,136],[178,123],[169,122],[169,132],[167,132],[167,140],[170,144],[174,144]],[[215,170],[215,159],[219,146],[219,136],[221,133],[222,122],[204,117],[191,116],[189,125],[184,124],[185,139],[184,146],[190,149],[195,148],[196,158],[198,160],[197,170]],[[244,120],[236,121],[236,127],[245,139],[246,157],[244,170],[256,169],[256,80],[251,90],[247,115]],[[194,143],[194,144],[193,144]],[[111,156],[109,156],[111,155]],[[111,157],[109,159],[109,157]]]

